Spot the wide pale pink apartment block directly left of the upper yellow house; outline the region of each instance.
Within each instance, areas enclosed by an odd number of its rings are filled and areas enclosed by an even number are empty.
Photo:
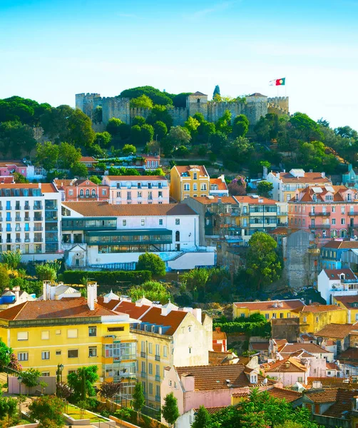
[[[114,205],[169,203],[168,180],[162,175],[105,175],[102,184]]]

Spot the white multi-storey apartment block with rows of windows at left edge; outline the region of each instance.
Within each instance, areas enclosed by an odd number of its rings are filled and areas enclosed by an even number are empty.
[[[2,251],[58,252],[61,195],[53,184],[0,183],[0,211]]]

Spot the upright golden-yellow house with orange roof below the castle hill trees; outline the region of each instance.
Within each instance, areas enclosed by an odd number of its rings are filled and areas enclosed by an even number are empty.
[[[170,170],[170,196],[177,202],[190,196],[208,196],[210,177],[204,165],[174,165]]]

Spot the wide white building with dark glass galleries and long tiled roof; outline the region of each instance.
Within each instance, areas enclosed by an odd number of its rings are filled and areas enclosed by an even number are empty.
[[[180,265],[175,269],[195,267],[193,260],[214,264],[214,253],[198,253],[199,216],[188,205],[63,202],[62,207],[62,246],[71,267],[134,269],[146,252],[160,255],[168,266],[175,259]]]

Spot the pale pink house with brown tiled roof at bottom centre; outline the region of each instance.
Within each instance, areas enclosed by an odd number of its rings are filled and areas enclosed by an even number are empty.
[[[256,370],[240,362],[232,365],[202,365],[190,367],[170,367],[165,370],[161,384],[162,405],[164,397],[173,392],[178,399],[180,417],[175,427],[190,427],[186,420],[191,409],[200,406],[230,406],[231,394],[248,393],[250,388],[260,391],[269,389],[275,381],[263,377],[260,367]]]

